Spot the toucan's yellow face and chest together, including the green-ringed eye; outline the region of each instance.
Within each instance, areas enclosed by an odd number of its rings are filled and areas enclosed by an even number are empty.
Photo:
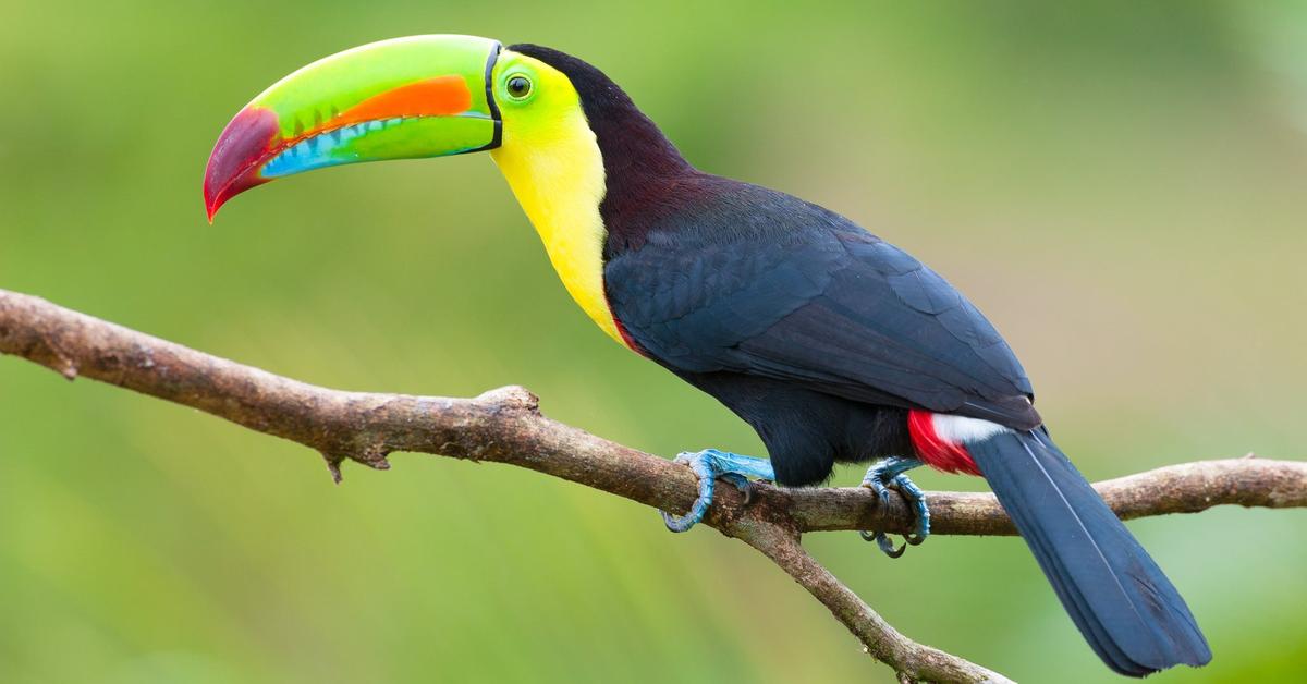
[[[510,88],[527,78],[529,92]],[[580,98],[558,69],[505,50],[494,68],[503,144],[491,150],[572,299],[626,347],[604,296],[604,158]]]

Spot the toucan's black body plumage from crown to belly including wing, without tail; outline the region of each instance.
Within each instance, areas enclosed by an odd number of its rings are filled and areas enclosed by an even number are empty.
[[[567,75],[595,131],[614,318],[753,425],[782,484],[911,454],[908,408],[1040,424],[1012,349],[933,271],[816,204],[694,169],[595,67],[511,50]]]

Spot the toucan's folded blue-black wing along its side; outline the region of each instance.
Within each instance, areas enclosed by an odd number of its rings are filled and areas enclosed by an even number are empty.
[[[604,275],[617,319],[674,371],[1042,422],[1021,364],[971,302],[907,252],[789,195],[738,184],[699,199]]]

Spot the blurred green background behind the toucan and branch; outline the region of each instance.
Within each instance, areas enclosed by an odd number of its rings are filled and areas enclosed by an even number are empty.
[[[229,116],[414,33],[576,54],[701,167],[915,252],[1004,331],[1091,479],[1303,455],[1300,4],[20,0],[0,22],[0,286],[325,386],[521,383],[648,451],[759,453],[593,328],[485,156],[308,174],[207,225]],[[333,487],[297,445],[0,360],[0,680],[891,680],[710,530],[510,467],[393,463]],[[1302,675],[1304,523],[1132,523],[1216,651],[1157,681]],[[1021,680],[1114,679],[1019,540],[899,561],[855,534],[806,544],[915,638]]]

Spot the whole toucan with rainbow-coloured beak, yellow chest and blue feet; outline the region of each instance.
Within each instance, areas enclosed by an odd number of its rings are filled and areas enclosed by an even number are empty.
[[[904,475],[984,477],[1076,626],[1114,671],[1201,666],[1184,599],[1052,442],[1012,348],[938,273],[848,218],[701,171],[597,68],[536,44],[417,35],[324,58],[276,82],[218,136],[209,220],[233,196],[311,169],[490,152],[567,292],[627,349],[716,398],[767,459],[677,460],[718,479],[863,484],[929,507]],[[864,532],[897,556],[882,532]]]

